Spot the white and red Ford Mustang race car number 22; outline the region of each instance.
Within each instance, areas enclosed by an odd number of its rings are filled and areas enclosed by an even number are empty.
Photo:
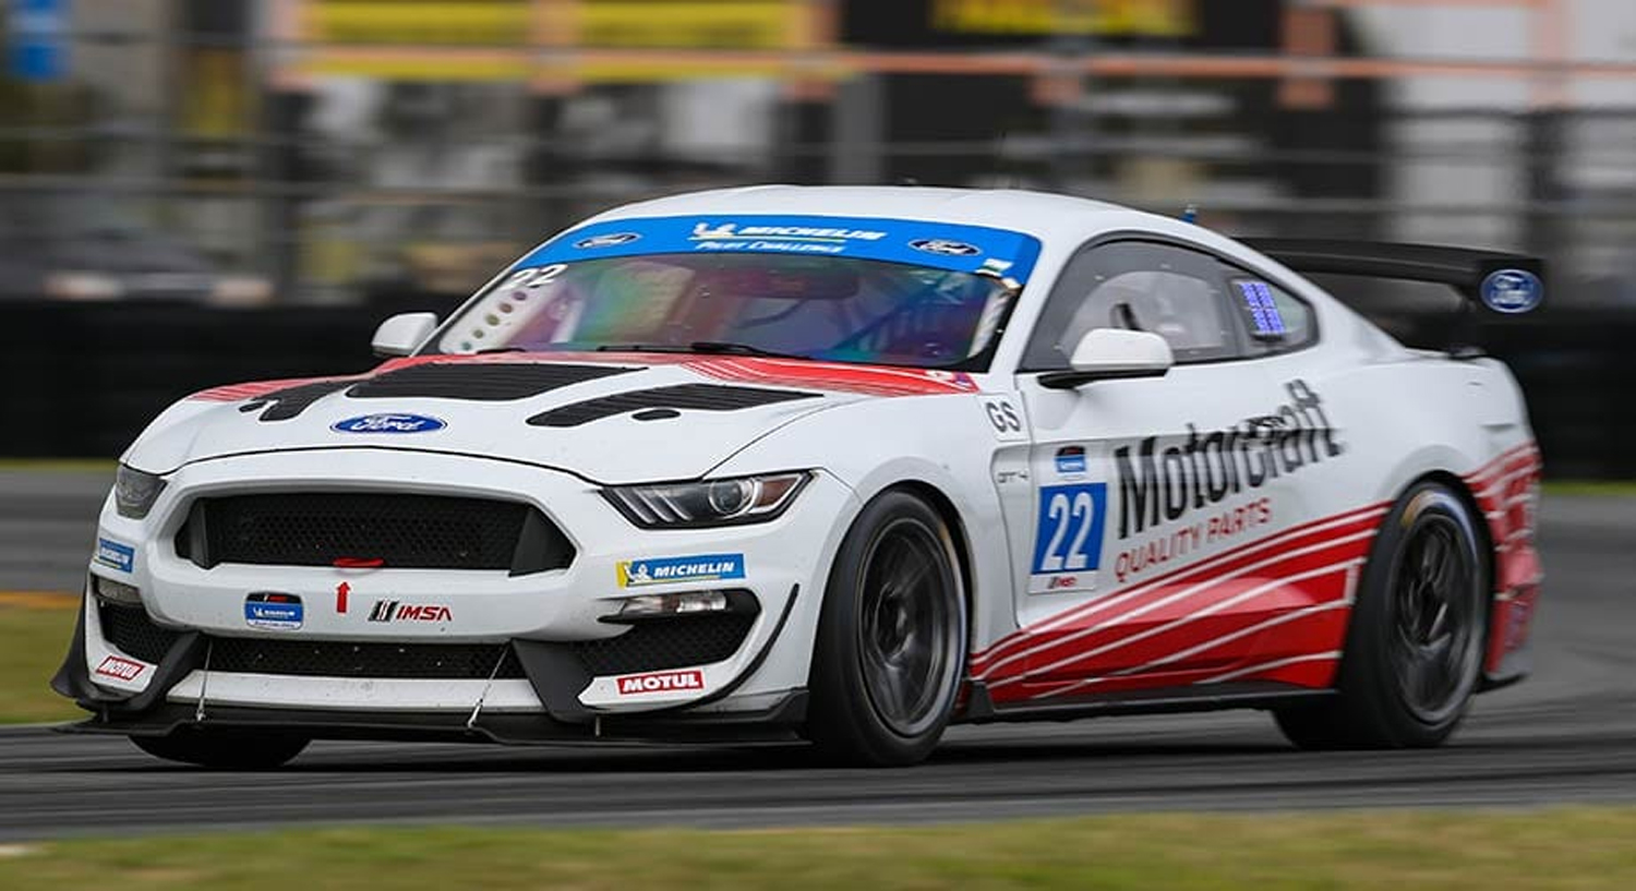
[[[1525,672],[1508,371],[1301,273],[1543,299],[1541,263],[1266,242],[1026,191],[762,186],[597,216],[365,374],[224,386],[123,456],[72,729],[810,739],[1271,710],[1433,745]]]

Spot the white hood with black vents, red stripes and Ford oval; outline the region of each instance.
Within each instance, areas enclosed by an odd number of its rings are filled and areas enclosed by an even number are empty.
[[[861,399],[975,392],[967,374],[651,353],[416,356],[368,374],[196,392],[126,453],[151,472],[231,454],[386,448],[692,479],[798,417]]]

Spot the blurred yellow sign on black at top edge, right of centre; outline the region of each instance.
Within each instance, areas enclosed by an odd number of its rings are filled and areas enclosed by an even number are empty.
[[[934,31],[1184,38],[1194,0],[931,0]]]

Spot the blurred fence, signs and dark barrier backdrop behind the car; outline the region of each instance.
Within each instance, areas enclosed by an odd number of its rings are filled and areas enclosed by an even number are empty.
[[[1631,0],[0,3],[0,454],[363,369],[612,204],[913,180],[1539,253],[1481,337],[1548,474],[1636,476]],[[1348,296],[1427,343],[1454,302]]]

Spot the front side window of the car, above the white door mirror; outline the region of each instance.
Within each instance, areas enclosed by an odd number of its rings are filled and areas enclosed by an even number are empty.
[[[1212,257],[1152,242],[1080,252],[1057,280],[1022,355],[1024,371],[1068,366],[1091,329],[1135,329],[1170,342],[1178,363],[1243,355]]]

